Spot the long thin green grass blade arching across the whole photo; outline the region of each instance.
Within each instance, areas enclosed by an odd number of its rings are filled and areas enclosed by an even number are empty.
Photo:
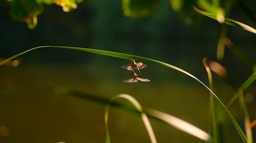
[[[177,70],[179,72],[182,72],[188,76],[190,76],[191,78],[194,78],[195,80],[197,80],[199,83],[201,83],[210,93],[212,93],[212,95],[215,96],[215,98],[220,102],[221,106],[226,110],[230,120],[232,121],[232,123],[234,124],[234,126],[236,127],[237,131],[239,132],[241,138],[243,139],[244,142],[248,142],[245,134],[243,133],[242,129],[240,128],[240,126],[238,125],[238,123],[236,122],[236,120],[234,120],[233,116],[231,115],[231,113],[229,112],[229,110],[227,109],[227,107],[222,103],[222,101],[219,99],[219,97],[212,92],[200,79],[198,79],[197,77],[195,77],[194,75],[188,73],[185,70],[182,70],[176,66],[164,63],[164,62],[160,62],[157,60],[153,60],[153,59],[149,59],[149,58],[144,58],[141,56],[137,56],[137,55],[132,55],[132,54],[126,54],[126,53],[119,53],[119,52],[113,52],[113,51],[105,51],[105,50],[98,50],[98,49],[90,49],[90,48],[79,48],[79,47],[68,47],[68,46],[40,46],[40,47],[35,47],[29,50],[26,50],[24,52],[20,52],[14,56],[12,56],[11,58],[3,61],[0,63],[0,65],[3,65],[5,63],[7,63],[10,60],[13,60],[15,58],[17,58],[17,56],[22,55],[26,52],[29,52],[31,50],[34,49],[38,49],[38,48],[66,48],[66,49],[74,49],[74,50],[80,50],[80,51],[87,51],[87,52],[92,52],[92,53],[97,53],[97,54],[102,54],[102,55],[107,55],[107,56],[113,56],[116,58],[121,58],[121,59],[129,59],[129,60],[137,60],[137,61],[144,61],[144,62],[150,62],[150,63],[155,63],[155,64],[160,64],[166,67],[169,67],[171,69]]]

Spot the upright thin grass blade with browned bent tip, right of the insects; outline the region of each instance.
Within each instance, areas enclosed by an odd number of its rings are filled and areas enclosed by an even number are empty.
[[[211,91],[214,91],[214,85],[212,83],[212,76],[210,72],[210,68],[208,67],[206,63],[206,58],[203,59],[203,65],[205,67],[205,70],[208,75],[208,80],[209,80],[209,87]],[[218,142],[218,134],[217,134],[217,126],[216,126],[216,111],[215,111],[215,101],[214,101],[214,96],[210,93],[210,101],[209,101],[209,125],[210,125],[210,135],[214,139],[213,142],[217,143]]]

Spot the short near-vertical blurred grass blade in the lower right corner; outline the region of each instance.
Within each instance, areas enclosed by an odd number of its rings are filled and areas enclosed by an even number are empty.
[[[244,100],[244,94],[242,90],[239,90],[239,105],[244,115],[244,126],[245,126],[245,133],[249,143],[252,143],[252,131],[250,128],[250,117],[248,113],[248,109],[246,107],[246,103]]]

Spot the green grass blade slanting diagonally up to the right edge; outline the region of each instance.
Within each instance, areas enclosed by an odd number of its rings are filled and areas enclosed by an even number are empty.
[[[239,88],[242,91],[245,91],[256,79],[256,71],[242,84],[242,86]],[[234,93],[232,98],[228,101],[227,107],[229,107],[236,99],[239,97],[239,91]]]

